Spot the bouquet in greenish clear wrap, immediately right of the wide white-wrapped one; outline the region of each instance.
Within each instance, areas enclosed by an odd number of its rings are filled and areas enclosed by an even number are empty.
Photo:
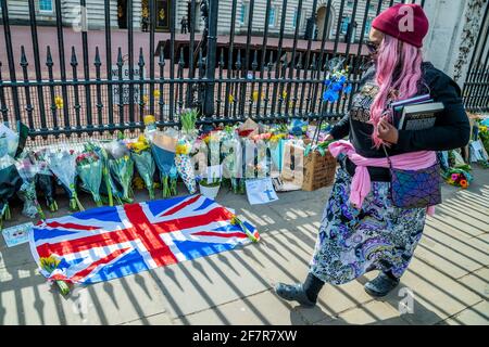
[[[100,184],[102,183],[103,162],[90,144],[76,157],[76,170],[82,179],[82,189],[89,192],[97,206],[102,206]]]

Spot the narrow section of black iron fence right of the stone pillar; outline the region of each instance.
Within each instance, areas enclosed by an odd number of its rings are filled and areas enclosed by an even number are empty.
[[[467,111],[489,112],[489,4],[468,64],[463,94]]]

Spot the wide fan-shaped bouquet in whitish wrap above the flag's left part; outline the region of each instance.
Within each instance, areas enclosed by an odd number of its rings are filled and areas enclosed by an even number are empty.
[[[49,169],[60,180],[61,184],[68,192],[70,209],[84,210],[82,203],[78,200],[75,188],[76,179],[76,154],[73,150],[57,149],[50,151],[46,156]]]

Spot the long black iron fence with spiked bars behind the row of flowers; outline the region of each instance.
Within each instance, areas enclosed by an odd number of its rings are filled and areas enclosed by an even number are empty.
[[[191,0],[189,33],[180,34],[178,1],[166,14],[168,33],[160,33],[156,21],[165,13],[156,1],[146,1],[140,30],[133,0],[125,2],[127,29],[113,27],[118,10],[105,0],[103,29],[95,30],[85,0],[76,25],[63,17],[62,0],[53,0],[51,27],[38,25],[35,0],[25,2],[28,26],[11,24],[11,3],[2,0],[0,116],[26,124],[33,139],[136,130],[148,114],[161,127],[178,126],[187,107],[201,110],[201,124],[339,117],[351,100],[322,102],[326,66],[344,59],[355,88],[372,18],[399,2],[416,1],[249,0],[243,7],[241,0]],[[475,66],[481,73],[472,73],[469,87],[479,74],[487,91],[487,57],[486,68],[480,61]]]

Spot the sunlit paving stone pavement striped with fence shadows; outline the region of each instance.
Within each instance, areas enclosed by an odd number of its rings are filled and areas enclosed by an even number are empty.
[[[0,325],[489,324],[489,170],[475,169],[466,191],[443,185],[443,205],[428,218],[409,271],[386,298],[363,291],[375,277],[368,273],[326,285],[312,309],[283,301],[273,286],[306,275],[329,192],[279,193],[277,202],[250,206],[246,196],[222,190],[217,202],[258,226],[258,244],[77,287],[67,298],[39,274],[27,244],[7,248],[1,239]],[[20,215],[14,208],[10,223],[24,222]]]

